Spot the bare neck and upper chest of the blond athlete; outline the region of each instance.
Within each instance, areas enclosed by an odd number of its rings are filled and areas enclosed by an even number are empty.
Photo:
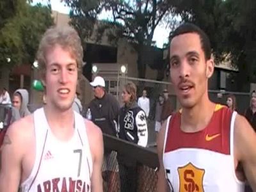
[[[52,133],[60,140],[69,140],[74,132],[74,111],[72,108],[60,111],[50,104],[44,106],[44,112]]]

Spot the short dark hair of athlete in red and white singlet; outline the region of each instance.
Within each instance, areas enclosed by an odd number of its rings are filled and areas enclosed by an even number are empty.
[[[205,60],[211,59],[211,42],[209,40],[209,36],[207,36],[206,33],[195,24],[188,22],[181,24],[177,29],[175,29],[175,31],[170,33],[170,42],[175,36],[183,35],[186,33],[196,33],[199,35],[201,47],[204,51]]]

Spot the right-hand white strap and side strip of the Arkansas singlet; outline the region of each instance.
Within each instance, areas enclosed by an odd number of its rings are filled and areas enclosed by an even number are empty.
[[[92,164],[92,154],[91,154],[89,140],[88,140],[88,136],[87,136],[87,132],[86,132],[86,129],[90,129],[90,127],[86,127],[85,126],[83,116],[81,116],[76,111],[74,111],[74,115],[75,115],[76,130],[78,132],[78,135],[80,137],[80,140],[82,142],[84,150],[86,151],[86,161],[87,161],[87,164],[88,164],[88,169],[89,169],[89,172],[90,172],[90,177],[92,177],[92,167],[93,167],[93,164]]]

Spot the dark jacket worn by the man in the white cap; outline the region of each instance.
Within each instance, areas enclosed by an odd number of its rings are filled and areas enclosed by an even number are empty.
[[[109,93],[105,93],[101,99],[93,99],[89,108],[92,113],[92,122],[98,125],[102,132],[116,136],[118,111],[120,109],[116,98]]]

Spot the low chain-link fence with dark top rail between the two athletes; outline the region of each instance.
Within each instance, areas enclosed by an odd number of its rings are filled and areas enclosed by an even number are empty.
[[[104,150],[112,150],[110,158],[104,158],[102,168],[104,191],[156,191],[159,166],[156,148],[143,148],[104,134]]]

